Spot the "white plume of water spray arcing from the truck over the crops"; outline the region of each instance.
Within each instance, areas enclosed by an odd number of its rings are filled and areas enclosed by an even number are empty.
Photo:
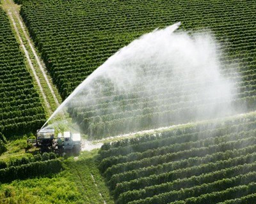
[[[109,57],[45,125],[67,111],[81,131],[101,138],[231,115],[236,82],[222,74],[218,43],[207,33],[173,33],[179,25],[145,34]]]

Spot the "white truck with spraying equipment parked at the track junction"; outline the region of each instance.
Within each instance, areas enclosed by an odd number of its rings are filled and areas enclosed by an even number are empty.
[[[36,147],[40,147],[42,152],[73,152],[79,154],[81,151],[81,135],[80,133],[72,133],[65,131],[56,135],[55,129],[42,129],[36,133],[36,140],[28,140]]]

